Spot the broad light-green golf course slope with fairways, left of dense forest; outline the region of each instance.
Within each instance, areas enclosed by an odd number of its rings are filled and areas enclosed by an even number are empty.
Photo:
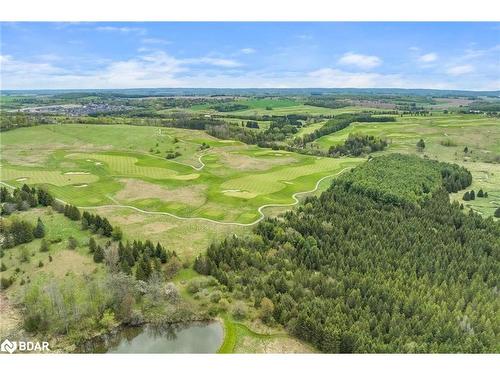
[[[203,142],[211,147],[201,150]],[[166,159],[176,145],[181,156]],[[361,161],[129,125],[38,126],[2,137],[2,181],[10,185],[44,185],[79,207],[127,206],[235,224],[259,220],[263,206],[293,205],[294,194]]]

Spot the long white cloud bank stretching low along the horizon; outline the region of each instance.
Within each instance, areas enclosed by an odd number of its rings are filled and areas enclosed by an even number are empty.
[[[352,72],[332,67],[316,70],[247,71],[231,69],[237,61],[199,57],[179,59],[164,51],[148,50],[131,59],[103,60],[92,70],[61,68],[62,61],[23,61],[0,55],[0,87],[3,89],[99,89],[155,87],[388,87],[498,90],[498,79],[491,76]],[[198,66],[199,65],[199,66]],[[211,68],[211,66],[219,67]],[[224,69],[225,68],[225,69]],[[460,69],[458,69],[460,68]],[[449,70],[457,74],[468,70],[456,64]],[[470,70],[470,69],[469,69]],[[431,72],[432,73],[432,72]],[[481,71],[482,73],[482,71]]]

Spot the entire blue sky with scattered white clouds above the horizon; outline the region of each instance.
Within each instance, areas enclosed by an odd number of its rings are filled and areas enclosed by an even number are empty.
[[[500,23],[1,23],[3,89],[500,89]]]

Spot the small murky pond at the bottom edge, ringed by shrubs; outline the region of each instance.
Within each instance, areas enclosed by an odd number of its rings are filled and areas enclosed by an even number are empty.
[[[93,343],[91,353],[216,353],[224,339],[220,322],[126,327]]]

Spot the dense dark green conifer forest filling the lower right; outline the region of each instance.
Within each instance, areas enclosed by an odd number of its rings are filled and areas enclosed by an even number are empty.
[[[377,159],[252,235],[213,244],[196,269],[258,308],[270,299],[270,324],[324,352],[498,352],[500,224],[446,191],[470,184],[468,172]]]

